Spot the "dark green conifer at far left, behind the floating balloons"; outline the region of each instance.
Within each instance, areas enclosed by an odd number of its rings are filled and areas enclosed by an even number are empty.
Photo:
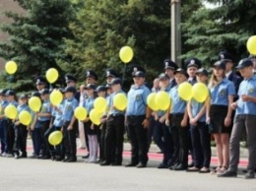
[[[0,43],[0,56],[18,63],[15,79],[32,79],[32,75],[45,74],[56,60],[68,60],[64,54],[63,38],[72,37],[69,23],[73,19],[73,4],[69,0],[17,0],[24,15],[7,12],[12,24],[1,30],[10,34],[8,43]]]

